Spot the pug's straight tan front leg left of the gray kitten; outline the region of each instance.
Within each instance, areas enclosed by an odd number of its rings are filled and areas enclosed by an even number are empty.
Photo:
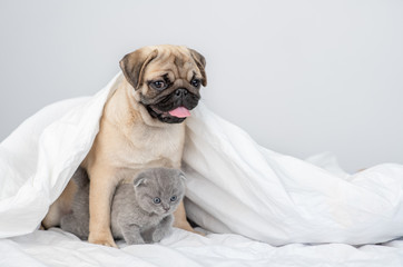
[[[117,186],[116,179],[111,178],[115,172],[101,168],[88,172],[90,177],[88,241],[117,248],[110,231],[110,206]]]

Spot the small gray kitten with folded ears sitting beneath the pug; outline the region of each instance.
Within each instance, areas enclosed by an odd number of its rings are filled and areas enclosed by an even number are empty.
[[[72,212],[61,218],[60,227],[81,239],[89,234],[89,179],[78,168],[78,190]],[[153,168],[140,172],[131,184],[119,185],[111,205],[111,231],[128,245],[160,241],[174,221],[173,212],[185,195],[185,176],[180,170]]]

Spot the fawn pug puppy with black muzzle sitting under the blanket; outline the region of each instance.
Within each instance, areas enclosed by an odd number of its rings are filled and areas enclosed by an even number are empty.
[[[145,47],[121,59],[124,77],[105,105],[99,132],[81,164],[90,178],[90,243],[116,247],[110,205],[119,182],[132,182],[148,168],[180,168],[184,121],[207,83],[205,66],[200,53],[179,46]],[[75,188],[70,180],[45,227],[59,225],[70,211]],[[174,226],[193,231],[183,202],[174,216]]]

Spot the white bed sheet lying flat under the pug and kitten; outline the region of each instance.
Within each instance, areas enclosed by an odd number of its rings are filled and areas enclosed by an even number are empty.
[[[141,267],[397,267],[403,240],[354,247],[345,244],[291,244],[274,247],[239,235],[206,237],[174,229],[161,243],[120,249],[81,241],[53,228],[0,240],[0,266],[141,266]]]

